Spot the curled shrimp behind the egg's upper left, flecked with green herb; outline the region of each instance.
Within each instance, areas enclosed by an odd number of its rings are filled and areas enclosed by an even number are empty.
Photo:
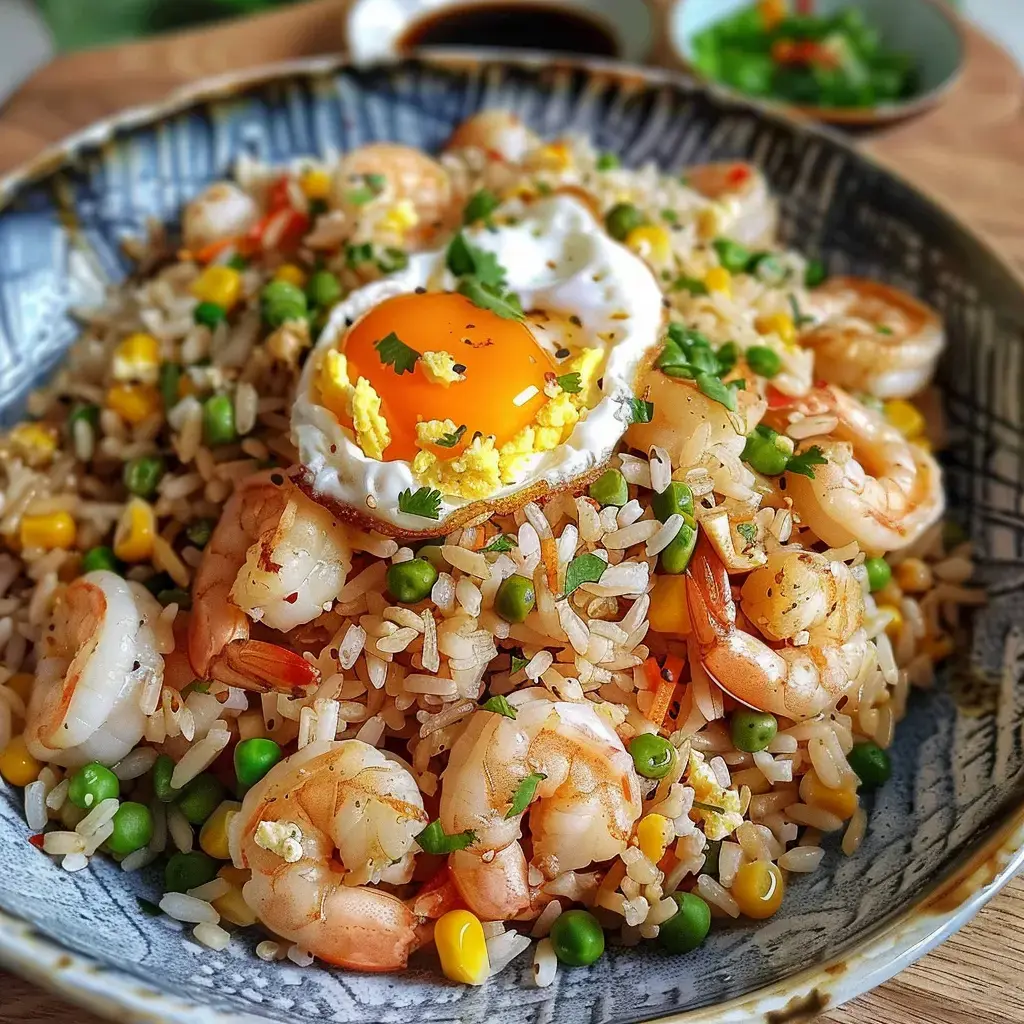
[[[374,142],[343,157],[334,176],[334,200],[342,209],[351,206],[348,197],[366,182],[368,175],[384,178],[382,196],[392,205],[412,204],[415,224],[404,231],[414,243],[428,242],[438,230],[454,226],[452,181],[447,171],[432,157],[409,145]]]

